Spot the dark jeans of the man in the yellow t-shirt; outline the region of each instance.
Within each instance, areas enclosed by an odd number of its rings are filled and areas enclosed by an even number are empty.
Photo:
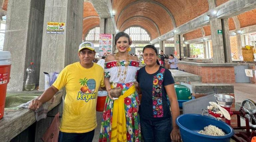
[[[92,142],[94,130],[86,133],[59,133],[58,142]]]

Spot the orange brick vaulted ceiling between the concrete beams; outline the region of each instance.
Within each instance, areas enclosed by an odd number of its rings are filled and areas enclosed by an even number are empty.
[[[215,0],[216,5],[229,0]],[[193,18],[207,12],[208,0],[111,0],[112,9],[116,11],[117,29],[123,31],[131,26],[140,26],[148,31],[151,39],[178,27]],[[2,9],[7,10],[8,0],[2,3]],[[88,31],[99,26],[100,18],[89,0],[83,3],[83,38]],[[237,16],[240,26],[255,25],[256,9]],[[229,30],[235,29],[232,18],[228,19]],[[205,36],[211,34],[210,26],[204,26]],[[189,39],[202,37],[199,29],[184,34]]]

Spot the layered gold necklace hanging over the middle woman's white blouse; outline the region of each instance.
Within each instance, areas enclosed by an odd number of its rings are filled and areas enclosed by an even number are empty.
[[[129,66],[129,54],[127,52],[126,63],[124,65],[125,66],[124,70],[122,70],[122,67],[121,67],[122,65],[121,65],[120,60],[119,60],[118,52],[116,53],[115,58],[116,58],[116,65],[117,65],[117,70],[118,70],[117,77],[118,77],[120,82],[124,83],[125,78],[126,78],[127,69],[128,69],[128,66]]]

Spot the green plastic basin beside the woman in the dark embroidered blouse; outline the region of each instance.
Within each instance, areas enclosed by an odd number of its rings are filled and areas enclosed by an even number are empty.
[[[190,89],[185,85],[175,84],[174,88],[176,90],[178,100],[189,100],[192,99]]]

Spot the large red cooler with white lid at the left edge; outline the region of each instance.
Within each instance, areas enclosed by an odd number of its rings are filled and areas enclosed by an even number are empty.
[[[4,116],[6,89],[10,79],[10,71],[11,53],[9,51],[0,51],[0,119]]]

